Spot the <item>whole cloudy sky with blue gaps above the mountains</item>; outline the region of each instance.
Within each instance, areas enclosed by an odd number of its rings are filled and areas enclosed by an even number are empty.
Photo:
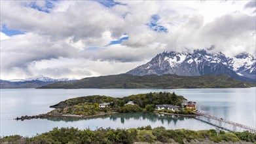
[[[125,73],[164,51],[255,56],[255,1],[0,1],[1,79]]]

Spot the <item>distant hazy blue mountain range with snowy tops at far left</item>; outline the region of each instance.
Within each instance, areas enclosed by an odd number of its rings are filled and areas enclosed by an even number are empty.
[[[74,82],[76,79],[52,79],[43,75],[37,75],[35,77],[27,79],[12,79],[9,81],[0,80],[0,88],[37,88],[46,84],[52,84],[54,82]]]

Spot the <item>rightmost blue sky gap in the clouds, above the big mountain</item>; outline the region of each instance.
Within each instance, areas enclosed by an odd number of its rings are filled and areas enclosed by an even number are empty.
[[[158,33],[159,32],[168,33],[168,29],[166,29],[166,27],[160,26],[157,23],[158,20],[160,20],[160,16],[158,14],[154,14],[153,16],[151,16],[151,21],[147,24],[147,26],[149,26],[150,29]]]

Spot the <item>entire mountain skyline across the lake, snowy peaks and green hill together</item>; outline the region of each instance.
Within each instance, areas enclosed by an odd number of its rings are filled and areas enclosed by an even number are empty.
[[[212,52],[212,49],[203,49],[162,52],[126,75],[91,77],[80,81],[39,75],[28,79],[0,80],[0,88],[235,88],[255,86],[255,83],[256,60],[251,54],[228,57],[221,52]]]

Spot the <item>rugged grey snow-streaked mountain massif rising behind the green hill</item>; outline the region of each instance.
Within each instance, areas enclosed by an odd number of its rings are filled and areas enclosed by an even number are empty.
[[[256,60],[245,53],[229,58],[221,52],[212,53],[208,50],[162,52],[150,62],[127,73],[131,75],[230,75],[242,81],[255,81]]]

